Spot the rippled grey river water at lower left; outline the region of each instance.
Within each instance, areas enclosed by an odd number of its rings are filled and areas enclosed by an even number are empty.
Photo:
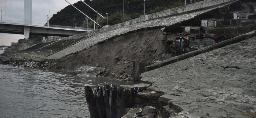
[[[89,118],[84,87],[106,84],[134,83],[0,64],[0,118]]]

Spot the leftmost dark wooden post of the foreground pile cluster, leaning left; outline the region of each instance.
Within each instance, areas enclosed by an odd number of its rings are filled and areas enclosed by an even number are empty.
[[[85,98],[86,102],[90,111],[91,118],[99,118],[97,107],[96,107],[96,101],[93,97],[92,88],[90,86],[85,86]]]

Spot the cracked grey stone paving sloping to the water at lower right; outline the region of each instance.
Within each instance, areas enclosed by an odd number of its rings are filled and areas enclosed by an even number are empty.
[[[189,112],[171,118],[247,118],[238,112],[256,112],[256,36],[141,77],[165,93],[159,101]]]

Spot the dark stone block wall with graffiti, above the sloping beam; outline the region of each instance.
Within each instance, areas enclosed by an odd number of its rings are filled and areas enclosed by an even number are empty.
[[[255,7],[256,0],[240,0],[164,27],[169,53],[184,54],[256,30]]]

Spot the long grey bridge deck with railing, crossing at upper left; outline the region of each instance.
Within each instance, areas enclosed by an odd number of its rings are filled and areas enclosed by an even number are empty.
[[[56,26],[39,23],[29,23],[23,21],[3,21],[0,22],[0,33],[24,34],[24,29],[30,27],[29,37],[31,35],[47,35],[47,36],[71,36],[80,33],[90,32],[91,28]],[[74,32],[74,33],[73,33]]]

